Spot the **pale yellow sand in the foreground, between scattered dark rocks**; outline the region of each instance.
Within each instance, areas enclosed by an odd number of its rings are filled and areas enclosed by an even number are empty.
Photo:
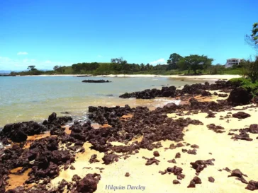
[[[247,119],[230,118],[230,122],[227,123],[227,119],[220,120],[220,115],[227,115],[228,111],[219,112],[215,118],[205,118],[206,113],[199,113],[198,115],[189,115],[184,117],[191,117],[191,119],[199,119],[203,122],[201,126],[189,125],[184,129],[185,136],[184,141],[189,144],[197,144],[200,148],[197,149],[197,155],[190,155],[188,153],[182,153],[181,148],[190,149],[190,146],[184,146],[176,149],[168,149],[164,151],[165,147],[169,147],[170,144],[176,144],[174,141],[161,141],[162,148],[158,148],[160,156],[157,157],[160,160],[159,165],[148,165],[146,166],[146,160],[142,156],[147,158],[153,157],[153,151],[148,151],[146,149],[140,149],[140,153],[131,155],[130,158],[123,160],[119,159],[118,162],[112,163],[111,165],[104,165],[101,158],[103,158],[104,153],[99,153],[89,149],[91,144],[85,143],[84,148],[86,151],[84,153],[78,153],[75,163],[72,163],[76,170],[62,170],[60,176],[52,180],[53,185],[57,185],[57,182],[65,179],[70,181],[74,174],[84,177],[87,173],[97,172],[101,174],[101,180],[98,184],[98,189],[96,193],[102,192],[234,192],[242,193],[249,192],[245,189],[247,185],[243,184],[239,180],[235,180],[235,177],[228,177],[229,172],[223,170],[219,172],[219,169],[230,168],[234,170],[236,168],[240,169],[243,173],[248,175],[245,177],[247,181],[258,180],[258,140],[255,139],[258,134],[250,134],[253,141],[233,141],[231,136],[228,135],[230,129],[241,129],[249,127],[249,124],[257,123],[258,112],[257,108],[247,109],[244,112],[252,115],[247,117]],[[231,111],[232,113],[238,112]],[[168,115],[169,117],[175,117],[176,115]],[[177,116],[179,118],[179,116]],[[217,134],[214,131],[208,130],[207,124],[214,123],[216,125],[221,125],[225,127],[225,133]],[[186,131],[189,129],[189,131]],[[238,134],[238,131],[235,131]],[[192,148],[191,148],[192,149]],[[176,164],[168,163],[167,160],[174,158],[177,152],[181,153],[181,158],[176,159]],[[209,153],[212,153],[209,154]],[[89,158],[92,154],[97,154],[97,159],[101,160],[99,163],[89,163]],[[208,165],[203,171],[201,171],[198,177],[201,178],[202,184],[196,185],[196,188],[187,188],[189,182],[193,179],[196,171],[191,168],[190,163],[196,160],[207,160],[215,158],[213,162],[215,165]],[[173,185],[172,181],[176,180],[176,176],[165,174],[161,175],[159,170],[164,171],[167,167],[173,167],[174,165],[183,168],[183,174],[186,175],[184,180],[181,180],[180,185]],[[91,167],[91,169],[86,169],[84,167]],[[103,172],[99,172],[96,169],[105,168]],[[130,177],[125,177],[125,173],[129,172]],[[215,182],[208,182],[208,177],[214,177]],[[106,186],[125,186],[123,190],[113,189],[108,190]],[[128,185],[133,186],[145,186],[145,190],[137,189],[127,189]]]

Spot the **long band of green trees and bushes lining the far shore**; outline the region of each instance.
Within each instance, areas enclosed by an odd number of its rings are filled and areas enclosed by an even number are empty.
[[[258,50],[258,23],[254,23],[252,34],[246,35],[247,44]],[[225,68],[224,65],[212,65],[214,59],[205,55],[190,54],[182,57],[180,54],[170,54],[167,64],[135,64],[128,63],[123,57],[111,59],[111,62],[82,62],[72,66],[54,66],[51,71],[40,71],[35,66],[28,66],[28,71],[11,72],[11,75],[52,75],[52,74],[240,74],[248,76],[252,83],[258,79],[257,57],[254,62],[247,59],[240,65]]]

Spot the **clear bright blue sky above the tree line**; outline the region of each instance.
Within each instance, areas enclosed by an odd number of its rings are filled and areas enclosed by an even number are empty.
[[[166,64],[204,54],[213,64],[248,59],[257,0],[0,1],[0,70],[79,62]]]

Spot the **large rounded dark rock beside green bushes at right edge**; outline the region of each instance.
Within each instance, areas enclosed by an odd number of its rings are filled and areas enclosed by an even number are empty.
[[[252,94],[245,88],[235,88],[231,91],[228,97],[228,103],[233,106],[247,105],[252,99]]]

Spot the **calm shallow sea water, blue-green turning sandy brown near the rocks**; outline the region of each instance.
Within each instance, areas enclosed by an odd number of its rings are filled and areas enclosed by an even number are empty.
[[[111,83],[82,83],[84,79],[104,79]],[[200,82],[200,81],[198,81]],[[184,86],[197,81],[175,81],[171,78],[103,78],[74,76],[0,77],[0,127],[13,122],[47,119],[56,112],[69,112],[77,119],[86,119],[89,105],[162,106],[169,98],[136,100],[118,98],[125,92],[162,88],[161,85]]]

